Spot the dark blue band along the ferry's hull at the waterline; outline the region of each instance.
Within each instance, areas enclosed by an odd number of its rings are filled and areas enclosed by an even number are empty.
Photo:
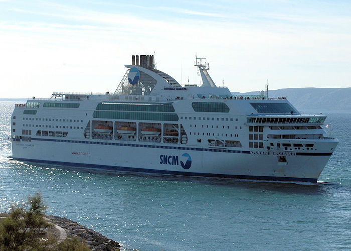
[[[34,160],[34,159],[22,159],[14,158],[15,160],[31,161],[39,163],[49,163],[56,165],[67,165],[76,167],[88,167],[98,168],[115,171],[128,171],[128,172],[141,172],[141,173],[157,173],[157,174],[175,174],[185,176],[202,176],[202,177],[218,177],[218,178],[234,178],[234,179],[247,179],[247,180],[269,180],[269,181],[298,181],[298,182],[312,182],[316,183],[317,179],[311,178],[295,178],[295,177],[272,177],[272,176],[251,176],[251,175],[232,175],[232,174],[212,174],[212,173],[192,173],[192,172],[181,172],[181,171],[167,171],[167,170],[156,170],[146,168],[133,168],[133,167],[119,167],[119,166],[106,166],[96,164],[85,164],[85,163],[73,163],[73,162],[61,162],[61,161],[49,161],[49,160]]]

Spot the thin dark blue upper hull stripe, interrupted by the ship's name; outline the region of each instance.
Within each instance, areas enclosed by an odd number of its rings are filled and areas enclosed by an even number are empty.
[[[188,150],[188,151],[250,154],[250,151],[208,149],[208,148],[197,148],[197,147],[172,147],[172,146],[159,146],[159,145],[140,145],[140,144],[96,142],[96,141],[71,141],[71,140],[56,140],[56,139],[42,139],[42,138],[32,138],[32,141],[52,141],[52,142],[64,142],[64,143],[78,143],[78,144],[123,146],[123,147],[146,147],[146,148],[176,149],[176,150]],[[301,155],[301,156],[330,156],[331,154],[332,153],[296,153],[296,155]]]

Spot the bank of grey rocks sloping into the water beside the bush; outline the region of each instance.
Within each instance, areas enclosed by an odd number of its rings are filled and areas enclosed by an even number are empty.
[[[49,215],[46,216],[52,223],[60,226],[66,231],[67,238],[77,237],[84,240],[85,244],[91,250],[120,250],[120,244],[117,241],[109,239],[90,228],[82,226],[73,220],[62,218],[59,216]]]

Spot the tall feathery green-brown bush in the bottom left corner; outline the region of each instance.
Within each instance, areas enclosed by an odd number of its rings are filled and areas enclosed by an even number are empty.
[[[40,194],[29,197],[26,204],[11,208],[9,216],[0,222],[0,250],[36,250],[39,238],[50,225],[44,219]]]

